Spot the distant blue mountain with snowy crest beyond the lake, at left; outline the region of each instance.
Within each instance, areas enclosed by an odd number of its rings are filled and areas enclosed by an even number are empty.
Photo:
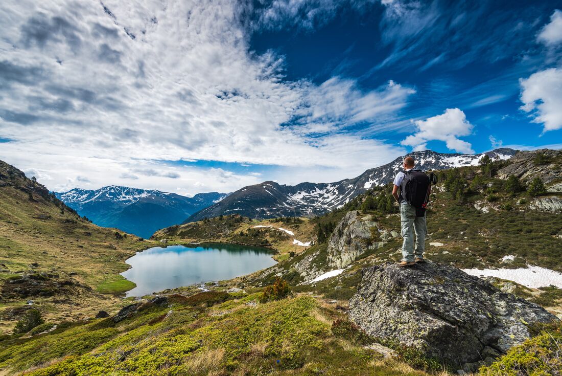
[[[147,239],[156,230],[181,223],[185,217],[226,197],[217,192],[186,197],[122,186],[97,190],[75,188],[55,195],[98,226],[116,227]]]

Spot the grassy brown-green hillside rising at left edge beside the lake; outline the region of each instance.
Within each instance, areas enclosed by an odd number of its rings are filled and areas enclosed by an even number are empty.
[[[0,332],[31,308],[48,320],[76,320],[119,306],[134,284],[123,262],[150,241],[98,227],[43,185],[0,161]]]

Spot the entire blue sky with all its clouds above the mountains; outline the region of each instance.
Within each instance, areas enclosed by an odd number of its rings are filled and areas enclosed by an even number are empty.
[[[0,159],[52,190],[562,147],[557,1],[21,0],[0,22]]]

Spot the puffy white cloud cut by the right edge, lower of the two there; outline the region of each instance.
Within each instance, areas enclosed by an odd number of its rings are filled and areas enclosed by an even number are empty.
[[[521,109],[542,123],[543,132],[562,128],[562,69],[550,68],[520,79]]]

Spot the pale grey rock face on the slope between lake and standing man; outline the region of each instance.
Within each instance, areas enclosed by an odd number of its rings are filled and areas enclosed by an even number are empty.
[[[368,249],[382,247],[383,239],[398,236],[396,231],[379,234],[377,226],[371,216],[360,217],[357,211],[347,212],[328,241],[328,266],[345,268]]]

